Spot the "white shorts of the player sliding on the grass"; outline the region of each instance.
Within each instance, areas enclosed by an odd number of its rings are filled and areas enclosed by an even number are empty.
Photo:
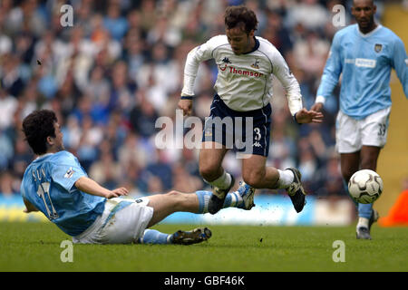
[[[73,237],[78,244],[130,244],[136,242],[151,221],[153,208],[149,198],[106,200],[102,216],[81,235]]]

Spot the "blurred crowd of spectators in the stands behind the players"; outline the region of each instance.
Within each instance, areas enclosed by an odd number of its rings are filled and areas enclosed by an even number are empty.
[[[65,4],[73,6],[73,26],[60,22]],[[0,193],[19,193],[24,169],[35,158],[21,123],[43,108],[57,113],[65,149],[109,189],[125,186],[138,194],[208,188],[199,176],[199,150],[157,149],[155,122],[160,116],[175,120],[187,53],[225,34],[226,6],[241,4],[256,12],[256,34],[283,54],[310,109],[331,40],[342,28],[332,23],[333,6],[344,5],[345,24],[352,24],[352,1],[0,1]],[[383,4],[376,5],[381,22]],[[200,65],[193,115],[203,121],[216,77],[213,61]],[[345,195],[335,152],[337,93],[327,100],[319,125],[292,120],[278,81],[271,101],[267,164],[300,169],[306,191],[317,197]],[[240,162],[232,152],[224,162],[237,179]]]

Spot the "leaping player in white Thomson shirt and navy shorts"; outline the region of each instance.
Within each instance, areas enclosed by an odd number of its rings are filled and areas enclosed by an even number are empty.
[[[217,92],[206,120],[199,152],[199,172],[213,188],[209,212],[215,214],[222,207],[234,178],[222,168],[222,160],[232,143],[234,149],[245,150],[242,158],[242,177],[255,189],[287,189],[297,212],[306,203],[301,175],[297,169],[267,167],[270,131],[270,99],[274,76],[287,91],[289,110],[297,123],[321,122],[321,112],[303,108],[302,96],[296,78],[290,72],[282,55],[266,39],[255,36],[257,16],[243,5],[229,6],[225,14],[226,35],[209,39],[189,52],[184,69],[184,86],[179,108],[184,115],[191,114],[194,81],[199,63],[214,59],[218,65]],[[246,128],[242,139],[245,147],[237,144],[235,120],[242,118]],[[216,126],[216,120],[226,127]],[[228,120],[233,120],[228,127]],[[250,125],[248,125],[250,126]],[[249,132],[250,134],[248,134]]]

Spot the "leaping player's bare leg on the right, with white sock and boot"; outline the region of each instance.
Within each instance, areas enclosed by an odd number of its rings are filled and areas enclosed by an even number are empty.
[[[301,174],[297,169],[275,169],[266,166],[267,157],[252,154],[242,160],[242,177],[255,189],[287,189],[296,212],[302,211],[306,204],[305,190]]]

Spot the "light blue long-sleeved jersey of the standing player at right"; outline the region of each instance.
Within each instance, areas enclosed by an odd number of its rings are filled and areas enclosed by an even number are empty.
[[[335,34],[316,102],[332,95],[343,73],[340,110],[364,119],[391,106],[392,68],[408,98],[408,57],[402,40],[382,25],[369,34],[362,34],[358,24],[349,25]]]

